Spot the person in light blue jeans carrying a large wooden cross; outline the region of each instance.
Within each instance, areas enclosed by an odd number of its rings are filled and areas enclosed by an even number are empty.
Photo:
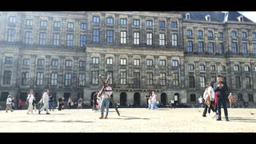
[[[102,90],[102,102],[101,102],[101,116],[100,119],[103,118],[104,108],[106,107],[106,114],[104,118],[107,118],[109,114],[109,106],[110,106],[110,95],[113,94],[112,88],[109,86],[109,82],[105,83],[105,88]]]

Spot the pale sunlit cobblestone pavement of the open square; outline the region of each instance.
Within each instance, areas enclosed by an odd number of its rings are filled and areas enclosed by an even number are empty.
[[[0,132],[256,132],[256,109],[228,109],[230,122],[203,118],[202,108],[113,108],[108,119],[90,109],[54,110],[26,114],[26,110],[0,111]],[[209,124],[211,123],[211,124]],[[211,125],[211,126],[210,126]]]

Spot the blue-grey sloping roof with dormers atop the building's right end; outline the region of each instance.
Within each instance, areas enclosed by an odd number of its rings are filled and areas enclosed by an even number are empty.
[[[190,19],[194,21],[204,21],[206,22],[206,15],[210,15],[211,22],[223,22],[225,13],[221,11],[184,11],[184,18],[186,18],[186,13],[190,14]],[[246,18],[244,15],[239,14],[237,11],[229,11],[228,20],[233,22],[239,22],[238,17],[243,16],[243,22],[253,22]]]

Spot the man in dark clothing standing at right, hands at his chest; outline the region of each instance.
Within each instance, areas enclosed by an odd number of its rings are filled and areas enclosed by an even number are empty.
[[[217,121],[222,120],[222,113],[221,108],[224,109],[225,119],[226,121],[230,121],[228,118],[228,112],[226,107],[226,91],[228,90],[228,87],[226,85],[226,82],[222,81],[222,76],[218,75],[217,82],[214,83],[214,92],[218,94],[218,101],[217,101],[217,107],[218,107],[218,118]]]

